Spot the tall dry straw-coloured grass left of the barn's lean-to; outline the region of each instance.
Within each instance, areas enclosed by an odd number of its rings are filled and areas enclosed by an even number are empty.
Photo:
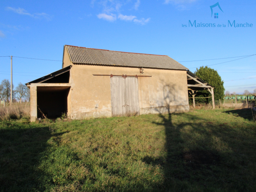
[[[23,102],[6,104],[5,108],[0,105],[0,120],[30,118],[30,103]]]

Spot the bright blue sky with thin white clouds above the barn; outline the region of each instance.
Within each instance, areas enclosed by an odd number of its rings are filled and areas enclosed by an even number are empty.
[[[215,3],[211,17],[210,6]],[[256,88],[255,0],[8,0],[0,5],[0,56],[13,58],[13,82],[27,83],[61,69],[63,46],[169,55],[192,72],[218,70],[231,93]],[[214,18],[218,13],[218,19]],[[191,27],[215,23],[216,27]],[[227,27],[250,23],[252,27]],[[217,27],[225,24],[226,27]],[[187,25],[187,27],[183,27]],[[245,25],[246,26],[246,25]],[[228,58],[210,61],[195,61]],[[217,65],[212,65],[217,64]],[[210,66],[212,65],[212,66]],[[0,80],[10,79],[10,58],[0,57]]]

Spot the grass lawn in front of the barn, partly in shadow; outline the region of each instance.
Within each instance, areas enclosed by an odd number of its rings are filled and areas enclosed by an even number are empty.
[[[0,191],[256,189],[250,109],[0,121]]]

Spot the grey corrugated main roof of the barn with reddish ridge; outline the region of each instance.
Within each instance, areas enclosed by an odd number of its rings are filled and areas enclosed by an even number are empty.
[[[188,70],[167,55],[110,51],[65,45],[73,64],[98,64],[125,67],[148,67],[158,69]]]

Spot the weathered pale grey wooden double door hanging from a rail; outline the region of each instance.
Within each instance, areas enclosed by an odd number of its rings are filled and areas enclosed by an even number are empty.
[[[140,114],[138,79],[136,77],[111,77],[112,116]]]

